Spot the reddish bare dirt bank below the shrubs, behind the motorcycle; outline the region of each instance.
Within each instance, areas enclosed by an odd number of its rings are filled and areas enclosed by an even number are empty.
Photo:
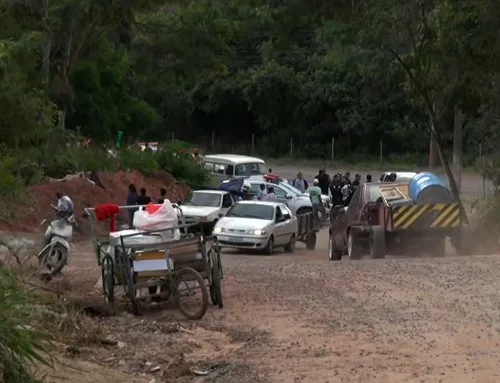
[[[88,234],[88,222],[82,218],[85,207],[93,207],[105,203],[124,205],[127,199],[128,186],[134,184],[139,190],[144,187],[153,200],[160,196],[160,188],[167,190],[167,198],[178,201],[186,197],[189,188],[179,183],[166,172],[144,174],[133,172],[103,172],[98,174],[104,189],[96,186],[87,178],[75,177],[62,181],[46,181],[29,188],[29,201],[13,209],[14,218],[0,220],[0,230],[33,231],[38,228],[43,218],[54,217],[50,204],[56,204],[56,192],[71,197],[75,205],[75,213],[80,224],[79,234]]]

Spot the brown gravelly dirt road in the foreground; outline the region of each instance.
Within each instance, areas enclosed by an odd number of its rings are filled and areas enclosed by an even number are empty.
[[[200,322],[175,310],[100,318],[124,346],[79,358],[146,383],[500,381],[500,256],[330,262],[326,237],[314,252],[225,252],[223,310]],[[92,295],[98,270],[80,250],[65,278]],[[207,375],[172,375],[176,348]]]

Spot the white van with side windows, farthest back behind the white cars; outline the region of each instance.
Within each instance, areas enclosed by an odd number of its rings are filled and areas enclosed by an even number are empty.
[[[206,155],[203,159],[203,168],[218,181],[269,173],[269,167],[264,160],[239,154]]]

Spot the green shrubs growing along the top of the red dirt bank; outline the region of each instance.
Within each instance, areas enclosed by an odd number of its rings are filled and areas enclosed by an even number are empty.
[[[0,195],[20,195],[24,186],[39,182],[43,177],[62,178],[81,171],[140,170],[168,171],[180,181],[196,188],[207,184],[207,173],[194,161],[182,141],[169,141],[156,153],[137,148],[118,151],[105,147],[79,146],[81,138],[69,137],[34,146],[25,151],[2,150],[0,156]]]

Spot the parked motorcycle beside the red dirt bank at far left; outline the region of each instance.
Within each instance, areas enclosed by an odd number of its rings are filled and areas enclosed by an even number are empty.
[[[51,205],[57,212],[57,207]],[[45,224],[44,219],[40,226]],[[51,277],[60,273],[68,263],[70,241],[73,237],[73,226],[76,226],[73,214],[64,215],[53,220],[47,226],[43,238],[42,250],[38,253],[39,270]]]

